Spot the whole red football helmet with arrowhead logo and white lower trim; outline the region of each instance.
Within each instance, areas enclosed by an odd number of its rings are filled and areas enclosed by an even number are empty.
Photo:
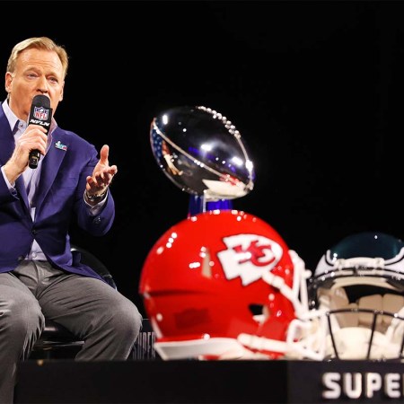
[[[310,275],[269,224],[214,210],[162,234],[139,293],[164,360],[276,359],[291,346],[291,322],[308,312]]]

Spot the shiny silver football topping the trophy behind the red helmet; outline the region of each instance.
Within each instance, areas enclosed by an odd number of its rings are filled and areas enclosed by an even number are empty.
[[[206,107],[177,107],[150,127],[154,157],[181,190],[206,201],[240,198],[254,186],[254,168],[233,123]]]

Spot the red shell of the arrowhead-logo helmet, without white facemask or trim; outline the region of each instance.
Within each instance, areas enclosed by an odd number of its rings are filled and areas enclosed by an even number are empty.
[[[288,251],[269,224],[242,211],[209,211],[173,225],[146,257],[139,285],[157,341],[242,332],[285,340],[293,305],[261,277],[272,271],[292,287]],[[254,307],[269,311],[264,327]]]

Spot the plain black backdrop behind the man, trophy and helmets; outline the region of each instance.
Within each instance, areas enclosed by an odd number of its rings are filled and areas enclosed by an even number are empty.
[[[389,1],[1,2],[0,63],[49,36],[70,56],[55,118],[119,167],[110,233],[72,240],[98,255],[139,305],[154,242],[186,218],[189,194],[152,154],[150,123],[204,105],[241,132],[258,215],[308,268],[350,233],[404,238],[404,4]],[[5,97],[5,92],[4,92]],[[163,274],[162,277],[169,276]]]

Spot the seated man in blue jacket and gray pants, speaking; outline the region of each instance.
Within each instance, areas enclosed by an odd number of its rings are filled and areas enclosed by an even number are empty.
[[[40,337],[44,319],[83,338],[76,360],[126,360],[141,329],[136,305],[70,251],[69,224],[94,236],[115,216],[109,146],[97,150],[57,126],[32,124],[34,97],[53,115],[63,100],[68,57],[46,37],[13,47],[0,108],[0,402],[13,402],[19,361]],[[38,99],[38,97],[37,97]],[[40,152],[30,168],[32,151]]]

